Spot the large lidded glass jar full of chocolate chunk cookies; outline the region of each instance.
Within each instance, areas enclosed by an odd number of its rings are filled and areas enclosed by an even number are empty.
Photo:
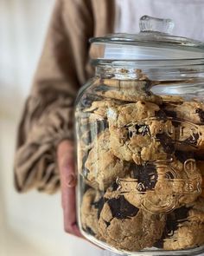
[[[204,48],[143,16],[93,38],[76,101],[78,215],[87,240],[129,255],[204,252]]]

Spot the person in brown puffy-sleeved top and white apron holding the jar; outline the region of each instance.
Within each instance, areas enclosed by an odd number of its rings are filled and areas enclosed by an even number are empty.
[[[61,187],[65,231],[81,236],[76,222],[73,104],[93,75],[97,55],[89,38],[137,33],[140,16],[174,20],[174,34],[204,41],[202,0],[58,0],[17,138],[16,189],[54,194]],[[194,15],[196,13],[196,15]],[[190,21],[190,22],[188,22]]]

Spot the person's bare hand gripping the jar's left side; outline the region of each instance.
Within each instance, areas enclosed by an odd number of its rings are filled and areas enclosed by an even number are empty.
[[[61,175],[61,203],[64,213],[64,229],[67,233],[82,237],[76,223],[76,173],[74,170],[73,142],[61,141],[57,148],[57,161]]]

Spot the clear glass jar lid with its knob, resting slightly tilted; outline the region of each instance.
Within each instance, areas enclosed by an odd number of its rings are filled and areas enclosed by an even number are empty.
[[[97,59],[105,60],[175,60],[204,58],[204,43],[172,36],[174,22],[151,16],[140,18],[138,34],[111,34],[90,40]]]

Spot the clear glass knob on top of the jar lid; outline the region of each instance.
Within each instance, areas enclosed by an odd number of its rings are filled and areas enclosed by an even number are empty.
[[[171,19],[162,19],[153,16],[144,15],[140,18],[140,32],[159,32],[171,34],[175,23]]]

